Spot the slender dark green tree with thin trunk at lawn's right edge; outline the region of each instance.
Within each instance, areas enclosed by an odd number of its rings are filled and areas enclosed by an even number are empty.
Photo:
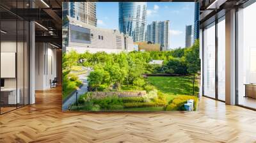
[[[193,74],[193,95],[195,93],[195,74],[200,71],[200,58],[199,58],[199,41],[196,40],[194,45],[185,50],[184,54],[188,72]]]

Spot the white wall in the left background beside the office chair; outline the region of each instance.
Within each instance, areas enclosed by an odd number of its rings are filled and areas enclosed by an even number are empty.
[[[49,43],[36,43],[35,90],[51,88],[50,80],[56,77],[56,49]]]

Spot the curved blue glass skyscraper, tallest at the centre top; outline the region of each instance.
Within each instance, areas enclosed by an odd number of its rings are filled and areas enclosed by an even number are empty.
[[[119,31],[132,36],[133,41],[146,41],[147,3],[119,3]]]

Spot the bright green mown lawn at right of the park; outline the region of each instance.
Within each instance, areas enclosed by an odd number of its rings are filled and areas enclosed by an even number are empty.
[[[148,77],[148,82],[155,86],[162,93],[167,93],[173,96],[179,94],[192,95],[193,77]],[[195,95],[198,94],[198,83],[195,82]]]

